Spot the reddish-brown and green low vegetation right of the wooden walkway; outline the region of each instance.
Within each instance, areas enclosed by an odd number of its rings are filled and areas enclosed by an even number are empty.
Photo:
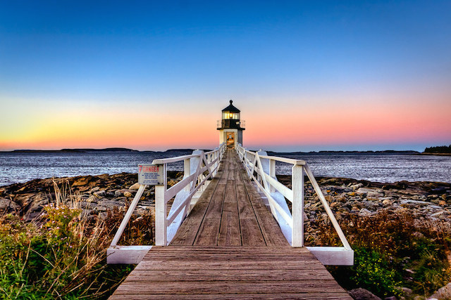
[[[340,245],[330,223],[315,242]],[[375,216],[349,214],[340,224],[354,249],[354,266],[329,266],[342,287],[362,287],[374,294],[402,296],[401,287],[427,296],[451,280],[447,256],[451,247],[449,221],[384,210]]]

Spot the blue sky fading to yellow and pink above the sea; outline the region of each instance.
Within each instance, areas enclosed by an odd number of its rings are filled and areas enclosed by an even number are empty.
[[[451,144],[451,1],[0,0],[0,150]]]

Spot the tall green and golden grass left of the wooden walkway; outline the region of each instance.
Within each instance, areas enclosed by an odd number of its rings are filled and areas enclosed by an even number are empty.
[[[54,190],[54,199],[34,222],[25,223],[12,214],[0,217],[4,299],[104,299],[133,268],[106,265],[106,248],[123,211],[109,211],[105,220],[88,216],[68,184],[59,188],[55,183]],[[150,214],[132,219],[121,242],[152,243],[149,224]]]

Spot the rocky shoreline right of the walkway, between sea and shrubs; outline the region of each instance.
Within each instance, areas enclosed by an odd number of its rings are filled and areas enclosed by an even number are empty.
[[[337,214],[358,214],[369,216],[378,211],[390,209],[393,213],[407,210],[432,219],[451,219],[451,183],[430,181],[399,181],[378,183],[350,178],[316,178],[330,208]],[[278,176],[288,187],[291,176]],[[311,211],[311,218],[321,207],[319,198],[307,181],[305,210]]]

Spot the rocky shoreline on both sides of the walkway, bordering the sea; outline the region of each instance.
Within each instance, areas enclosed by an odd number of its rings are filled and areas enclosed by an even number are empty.
[[[168,171],[169,186],[182,178],[182,172]],[[291,176],[280,175],[278,180],[290,188]],[[350,178],[317,178],[317,181],[338,221],[346,214],[371,216],[387,209],[395,214],[409,211],[422,218],[451,219],[451,183],[376,183]],[[35,179],[0,187],[0,212],[19,214],[25,220],[35,219],[44,205],[55,200],[55,188],[69,199],[77,200],[86,214],[102,216],[115,207],[124,209],[135,197],[139,185],[137,174],[129,173]],[[153,208],[154,187],[148,187],[135,214],[143,214]],[[308,181],[305,212],[307,230],[309,221],[326,217]]]

